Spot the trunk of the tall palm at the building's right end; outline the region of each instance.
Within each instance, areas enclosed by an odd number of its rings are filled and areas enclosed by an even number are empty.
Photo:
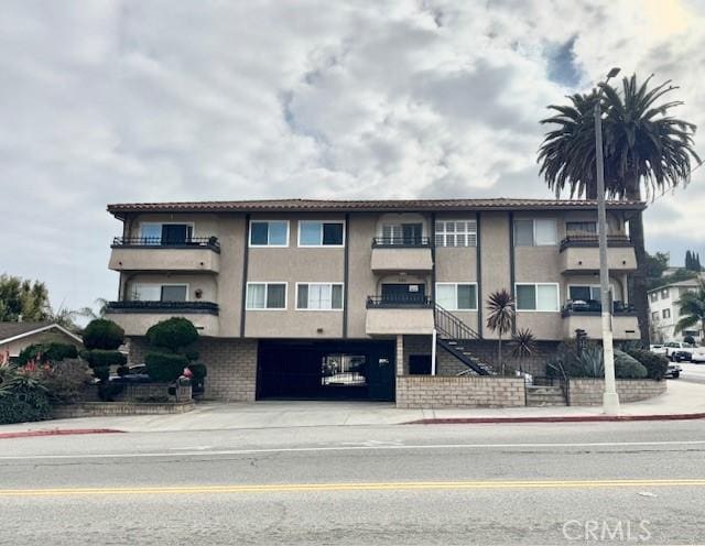
[[[631,200],[641,200],[638,181],[628,183],[626,197]],[[641,210],[629,220],[629,236],[631,237],[631,242],[634,245],[634,254],[637,255],[637,271],[631,277],[631,294],[629,301],[637,310],[641,343],[644,349],[648,349],[651,343],[651,330],[649,329],[649,298],[647,296],[647,247],[643,237],[643,214]]]

